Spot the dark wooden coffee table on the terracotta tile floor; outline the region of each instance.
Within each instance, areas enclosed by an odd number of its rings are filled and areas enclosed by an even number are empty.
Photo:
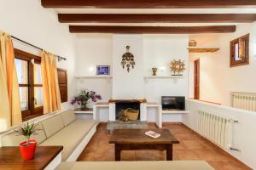
[[[172,144],[179,141],[168,129],[154,129],[161,136],[148,137],[148,129],[115,129],[111,133],[109,144],[115,144],[115,161],[120,161],[121,150],[166,150],[166,160],[172,161]]]

